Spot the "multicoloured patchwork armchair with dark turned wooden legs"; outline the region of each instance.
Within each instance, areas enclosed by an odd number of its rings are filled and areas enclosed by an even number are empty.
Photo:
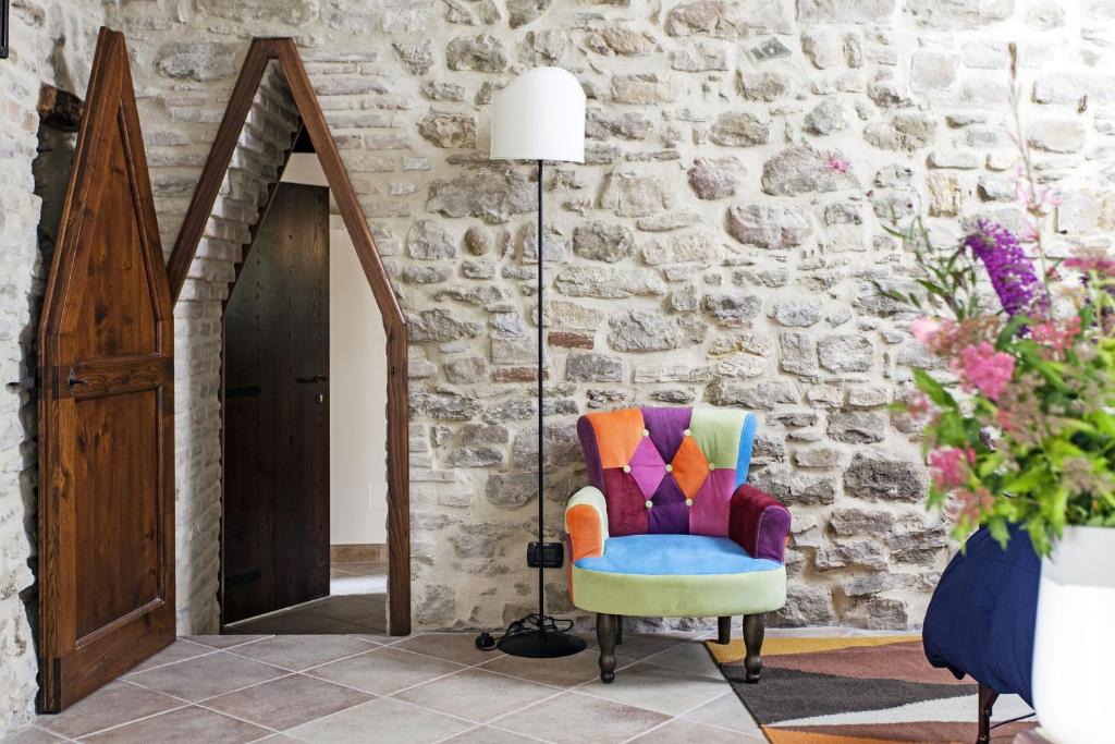
[[[588,485],[565,509],[573,603],[597,612],[600,678],[615,678],[622,616],[744,616],[746,679],[759,679],[764,613],[786,602],[789,511],[747,485],[756,418],[627,408],[576,424]]]

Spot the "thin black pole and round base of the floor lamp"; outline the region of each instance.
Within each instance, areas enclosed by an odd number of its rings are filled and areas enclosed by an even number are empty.
[[[543,426],[543,388],[542,376],[545,371],[545,344],[542,338],[544,332],[543,313],[543,276],[542,276],[542,161],[539,164],[539,225],[537,225],[537,307],[539,307],[539,541],[532,545],[533,560],[539,568],[539,611],[527,615],[525,618],[515,620],[507,626],[507,629],[498,638],[493,638],[491,634],[482,632],[476,638],[476,646],[482,649],[498,647],[500,650],[512,656],[527,656],[531,658],[556,658],[560,656],[571,656],[584,650],[586,644],[583,639],[570,634],[573,628],[572,620],[555,620],[546,615],[545,595],[545,567],[547,562],[547,551],[545,550],[545,450]],[[561,543],[558,543],[558,550]],[[558,552],[556,566],[561,568],[561,553]]]

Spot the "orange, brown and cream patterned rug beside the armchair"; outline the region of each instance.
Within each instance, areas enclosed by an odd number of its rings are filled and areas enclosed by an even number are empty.
[[[743,640],[706,646],[774,744],[976,741],[976,684],[931,667],[920,637],[767,636],[757,685],[744,683]],[[995,719],[1029,712],[1002,696]],[[991,741],[1008,744],[1031,722],[995,728]]]

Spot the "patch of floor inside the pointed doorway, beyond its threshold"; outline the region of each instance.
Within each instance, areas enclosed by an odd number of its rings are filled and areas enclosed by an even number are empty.
[[[387,632],[387,564],[337,563],[329,597],[225,628],[240,635],[338,635]]]

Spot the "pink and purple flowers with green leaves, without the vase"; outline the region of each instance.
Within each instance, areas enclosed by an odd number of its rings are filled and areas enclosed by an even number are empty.
[[[929,504],[952,514],[957,538],[987,525],[1006,543],[1015,522],[1046,555],[1067,525],[1115,528],[1115,259],[1047,258],[1058,200],[1015,141],[1024,226],[979,220],[944,251],[920,220],[892,231],[921,276],[915,291],[883,291],[925,313],[911,331],[947,371],[914,369],[921,395],[899,406],[928,417]]]

